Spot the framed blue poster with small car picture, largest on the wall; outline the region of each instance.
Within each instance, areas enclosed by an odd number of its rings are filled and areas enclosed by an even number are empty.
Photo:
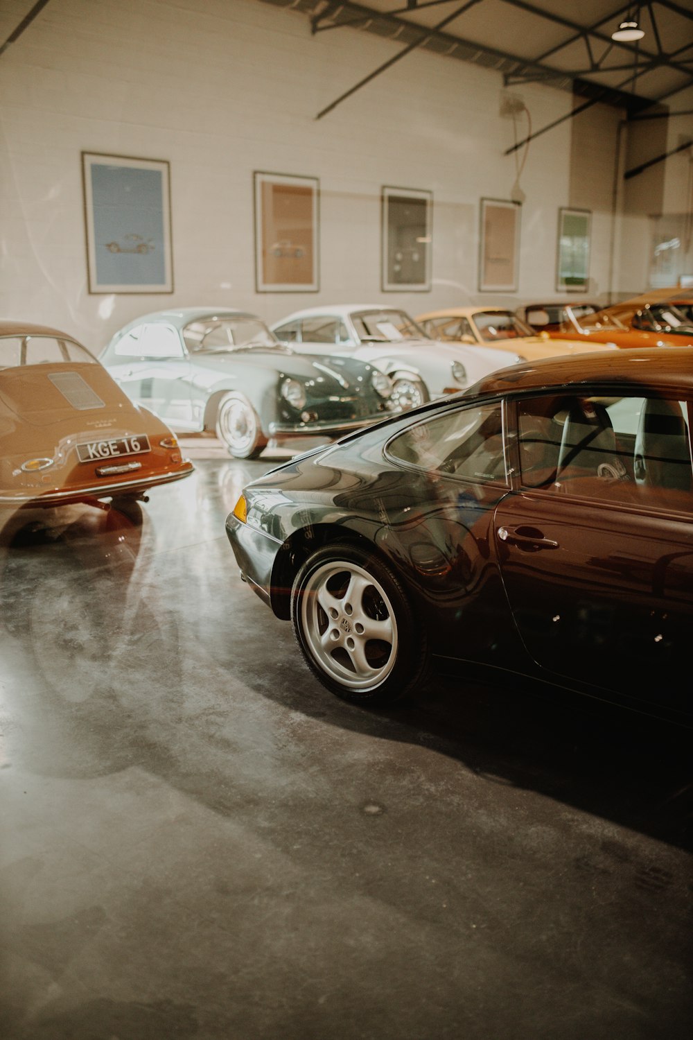
[[[172,292],[168,162],[82,152],[89,292]]]

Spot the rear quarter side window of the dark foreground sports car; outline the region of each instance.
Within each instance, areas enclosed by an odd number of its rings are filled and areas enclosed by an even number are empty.
[[[429,472],[507,485],[503,408],[499,402],[472,405],[418,422],[395,437],[387,453]]]

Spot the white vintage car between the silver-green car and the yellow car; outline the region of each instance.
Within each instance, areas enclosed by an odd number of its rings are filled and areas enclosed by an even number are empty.
[[[339,354],[379,368],[393,381],[391,405],[414,408],[457,393],[522,355],[439,343],[398,308],[377,304],[312,307],[274,322],[272,332],[302,354]]]

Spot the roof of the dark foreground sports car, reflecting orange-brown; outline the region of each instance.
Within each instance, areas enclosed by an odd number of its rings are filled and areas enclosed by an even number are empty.
[[[557,356],[521,362],[483,376],[474,393],[523,393],[532,390],[563,390],[588,384],[661,385],[683,392],[693,390],[693,347],[633,347],[594,354]]]

